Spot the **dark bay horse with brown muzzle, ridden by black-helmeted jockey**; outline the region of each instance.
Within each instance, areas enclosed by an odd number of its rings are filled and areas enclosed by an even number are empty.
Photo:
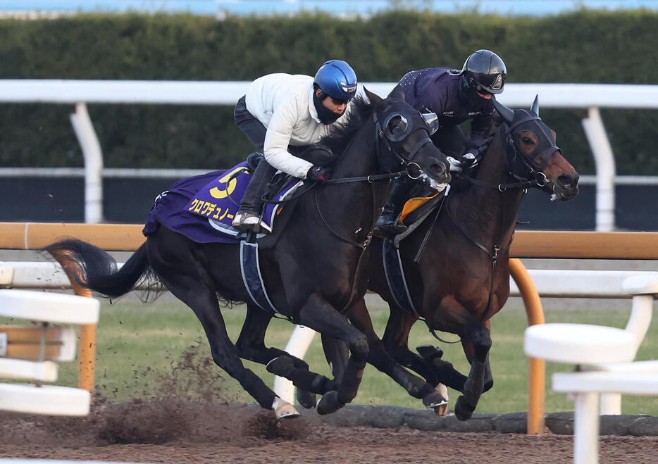
[[[454,407],[461,420],[471,417],[480,395],[493,384],[488,360],[490,318],[509,296],[509,246],[526,189],[536,187],[559,200],[578,194],[578,174],[556,146],[555,133],[539,118],[538,99],[530,111],[512,111],[498,102],[495,108],[502,123],[476,177],[461,181],[471,185],[449,192],[442,209],[399,242],[414,309],[402,308],[394,298],[383,268],[384,241],[375,238],[368,255],[368,289],[390,307],[383,339],[373,330],[364,300],[349,313],[354,326],[368,337],[369,363],[390,374],[390,356],[430,384],[441,382],[461,391]],[[423,356],[409,350],[409,331],[418,319],[430,330],[459,336],[471,363],[468,376],[442,360],[434,347],[423,347]],[[324,337],[323,344],[328,345],[325,353],[336,369],[344,358],[340,346],[332,346]],[[340,378],[340,370],[335,375]]]

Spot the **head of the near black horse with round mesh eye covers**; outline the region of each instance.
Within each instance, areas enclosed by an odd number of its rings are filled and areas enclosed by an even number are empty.
[[[378,144],[383,147],[378,149],[381,167],[394,171],[402,164],[411,177],[427,175],[437,184],[450,182],[449,163],[430,139],[438,129],[436,115],[421,114],[406,104],[399,85],[386,99],[365,90],[373,106]]]

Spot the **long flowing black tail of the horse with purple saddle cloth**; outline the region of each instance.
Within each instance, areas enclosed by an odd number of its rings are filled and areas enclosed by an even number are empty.
[[[142,275],[150,270],[146,243],[118,269],[106,251],[77,239],[66,239],[44,248],[82,287],[116,298],[128,293]]]

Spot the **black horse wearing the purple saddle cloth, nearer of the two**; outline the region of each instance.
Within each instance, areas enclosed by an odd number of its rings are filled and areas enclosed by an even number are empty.
[[[265,346],[273,315],[249,297],[240,272],[240,244],[195,243],[160,225],[120,270],[106,252],[80,240],[51,244],[46,251],[63,265],[77,266],[80,284],[104,296],[125,294],[140,277],[154,272],[197,315],[213,360],[261,407],[275,410],[277,418],[299,414],[240,358],[266,364],[270,372],[292,380],[300,389],[323,394],[318,412],[331,413],[356,396],[368,356],[366,337],[341,311],[366,292],[362,272],[366,249],[392,173],[414,171],[414,177],[427,175],[438,184],[450,180],[447,160],[430,141],[426,119],[404,102],[402,90],[396,87],[387,99],[367,90],[366,94],[369,103],[355,99],[347,124],[324,141],[340,154],[333,163],[335,182],[318,184],[310,194],[287,204],[282,215],[289,219],[278,242],[259,251],[273,306],[295,323],[349,347],[351,356],[340,382],[310,372],[304,361],[285,351]],[[228,337],[218,299],[247,302],[236,344]],[[426,391],[428,403],[441,400],[431,393],[433,386]]]

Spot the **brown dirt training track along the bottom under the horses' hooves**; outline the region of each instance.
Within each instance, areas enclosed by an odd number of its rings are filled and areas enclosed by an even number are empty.
[[[363,407],[361,407],[363,408]],[[371,412],[387,415],[386,409]],[[342,414],[341,414],[342,413]],[[0,458],[138,463],[567,463],[570,435],[341,427],[359,411],[276,422],[244,403],[99,402],[89,418],[0,413]],[[603,436],[601,463],[657,463],[658,437]]]

